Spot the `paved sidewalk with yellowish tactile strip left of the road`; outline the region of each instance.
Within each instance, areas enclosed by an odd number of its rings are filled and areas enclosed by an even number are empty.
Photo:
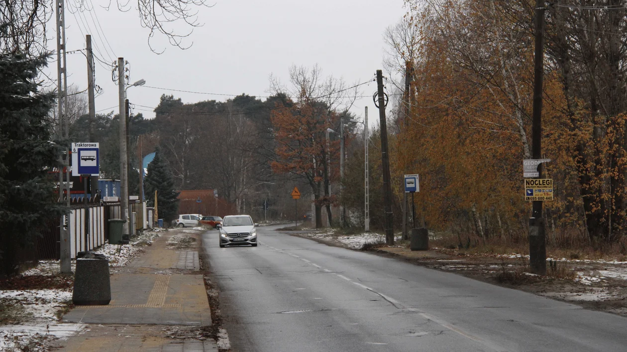
[[[110,304],[76,306],[65,314],[63,322],[87,326],[82,333],[60,341],[60,350],[217,352],[213,339],[193,338],[194,329],[206,329],[212,323],[199,271],[201,232],[169,231],[132,263],[112,270]]]

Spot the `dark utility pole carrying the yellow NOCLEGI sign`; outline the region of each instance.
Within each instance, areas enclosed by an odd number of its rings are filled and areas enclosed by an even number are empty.
[[[534,107],[532,120],[532,158],[542,158],[542,82],[544,79],[544,0],[535,1]],[[542,178],[542,164],[538,166]],[[545,275],[547,271],[545,223],[542,201],[533,201],[529,219],[529,265],[531,272]]]

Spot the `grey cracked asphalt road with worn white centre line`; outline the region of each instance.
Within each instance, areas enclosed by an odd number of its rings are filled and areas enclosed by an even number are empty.
[[[233,351],[627,351],[627,319],[257,230],[203,234]]]

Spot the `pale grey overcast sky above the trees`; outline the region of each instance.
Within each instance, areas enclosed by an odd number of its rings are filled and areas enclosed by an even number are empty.
[[[109,66],[123,57],[130,63],[130,83],[146,81],[144,87],[129,88],[128,98],[135,113],[148,118],[154,117],[152,110],[162,94],[173,94],[184,103],[229,98],[149,86],[267,96],[270,74],[287,82],[292,64],[319,64],[324,76],[342,77],[350,85],[372,79],[376,69],[382,69],[384,30],[406,12],[403,0],[218,0],[211,8],[199,8],[198,22],[204,25],[194,28],[182,44],[191,48],[171,46],[157,33],[150,44],[165,51],[155,54],[147,43],[149,29],[140,24],[136,1],[130,1],[127,12],[115,6],[107,11],[100,6],[108,3],[105,0],[85,1],[95,4],[92,11],[76,13],[72,5],[78,0],[66,0],[66,49],[85,48],[85,34],[92,34],[94,54],[104,61],[96,64],[96,84],[103,90],[96,98],[96,111],[117,113],[118,89]],[[182,23],[173,28],[179,34],[190,29]],[[56,51],[56,34],[49,36],[48,46]],[[68,54],[67,67],[68,84],[87,88],[85,56]],[[56,78],[56,63],[50,63],[48,75]],[[361,88],[364,95],[372,95],[376,84]],[[359,99],[351,110],[362,118],[364,106],[372,111],[372,98]],[[376,119],[372,114],[371,121]]]

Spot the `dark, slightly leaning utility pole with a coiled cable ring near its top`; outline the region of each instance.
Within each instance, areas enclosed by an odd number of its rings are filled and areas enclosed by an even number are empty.
[[[385,207],[386,244],[394,244],[394,219],[392,214],[392,186],[390,184],[390,162],[387,151],[386,99],[383,92],[383,73],[377,69],[377,95],[379,98],[379,123],[381,124],[381,166],[383,169],[383,203]]]

